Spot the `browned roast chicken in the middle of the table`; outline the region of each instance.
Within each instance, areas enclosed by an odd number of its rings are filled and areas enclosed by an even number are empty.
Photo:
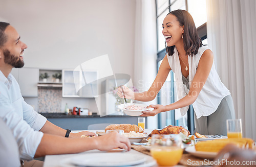
[[[151,134],[180,134],[183,133],[186,136],[190,135],[190,132],[183,127],[169,125],[162,130],[153,130]]]

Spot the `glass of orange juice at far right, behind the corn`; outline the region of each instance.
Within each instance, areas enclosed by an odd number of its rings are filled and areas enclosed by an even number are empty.
[[[227,137],[228,138],[242,138],[242,121],[227,120]]]

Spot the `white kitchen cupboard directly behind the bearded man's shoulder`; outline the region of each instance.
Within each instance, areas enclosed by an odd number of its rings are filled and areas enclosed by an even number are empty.
[[[23,97],[37,97],[38,68],[13,68],[11,74],[17,80]]]

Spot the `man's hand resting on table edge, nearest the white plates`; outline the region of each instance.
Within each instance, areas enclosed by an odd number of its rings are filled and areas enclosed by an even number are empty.
[[[95,140],[97,140],[97,149],[100,151],[112,150],[115,148],[120,148],[127,151],[131,150],[129,138],[124,137],[117,132],[96,137]]]

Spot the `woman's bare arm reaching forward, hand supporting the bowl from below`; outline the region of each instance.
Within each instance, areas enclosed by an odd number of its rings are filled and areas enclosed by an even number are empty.
[[[193,104],[200,91],[202,90],[208,76],[210,73],[210,69],[212,67],[212,64],[214,62],[214,55],[210,50],[204,51],[203,55],[201,56],[197,68],[196,75],[190,85],[189,92],[187,96],[184,98],[180,99],[179,101],[169,104],[167,106],[162,106],[162,105],[150,105],[148,108],[155,108],[153,111],[144,111],[141,116],[154,116],[160,112],[164,111],[170,111],[174,110],[177,108],[182,108],[185,106],[188,106],[190,104]]]

